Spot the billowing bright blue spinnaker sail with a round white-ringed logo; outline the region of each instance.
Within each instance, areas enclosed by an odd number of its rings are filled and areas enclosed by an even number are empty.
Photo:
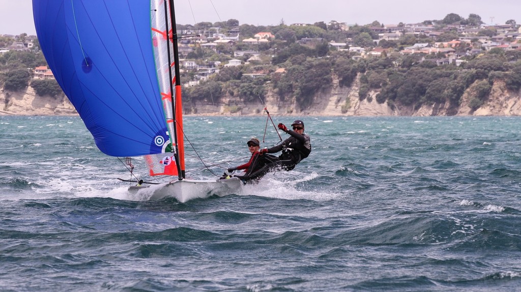
[[[161,12],[150,0],[33,0],[48,65],[107,155],[161,153],[169,141],[151,36]]]

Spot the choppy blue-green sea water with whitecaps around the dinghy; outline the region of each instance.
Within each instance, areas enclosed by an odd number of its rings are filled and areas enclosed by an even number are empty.
[[[78,117],[0,117],[0,290],[521,290],[521,118],[298,118],[293,171],[181,204],[130,196]],[[184,132],[195,179],[280,141],[262,115]]]

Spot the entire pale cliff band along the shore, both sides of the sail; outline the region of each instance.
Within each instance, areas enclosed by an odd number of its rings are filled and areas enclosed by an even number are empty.
[[[351,87],[340,87],[338,80],[333,78],[332,86],[318,93],[314,103],[306,109],[301,109],[295,98],[281,100],[270,90],[264,97],[265,105],[260,100],[244,103],[236,96],[225,95],[219,104],[197,102],[185,105],[183,110],[185,114],[240,116],[259,115],[266,106],[272,115],[277,116],[521,116],[521,93],[508,91],[502,81],[494,82],[489,98],[475,111],[468,106],[473,97],[473,92],[469,90],[463,94],[458,108],[450,108],[447,103],[414,109],[378,104],[378,92],[375,91],[360,101],[359,86],[357,79]],[[38,96],[32,87],[28,87],[23,92],[0,91],[0,115],[77,115],[77,112],[65,96]]]

